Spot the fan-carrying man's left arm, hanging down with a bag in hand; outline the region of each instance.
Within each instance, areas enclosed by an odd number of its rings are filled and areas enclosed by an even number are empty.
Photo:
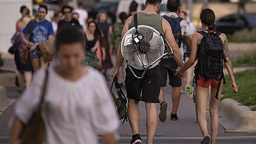
[[[131,24],[131,21],[132,21],[132,16],[129,17],[126,22],[125,22],[125,25],[124,25],[124,28],[122,30],[122,38],[121,40],[123,39],[125,33],[129,30],[129,26]],[[120,66],[122,65],[123,61],[124,61],[124,58],[122,56],[122,52],[121,52],[121,42],[119,42],[119,45],[118,45],[118,50],[117,50],[117,53],[116,53],[116,64],[115,64],[115,68],[114,68],[114,71],[112,73],[112,77],[114,78],[115,76],[118,76],[119,74],[119,68]]]

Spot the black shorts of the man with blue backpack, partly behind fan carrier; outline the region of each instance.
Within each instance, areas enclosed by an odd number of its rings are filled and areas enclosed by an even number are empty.
[[[164,58],[160,61],[161,66],[161,87],[166,86],[167,83],[167,74],[169,76],[169,84],[172,87],[181,86],[181,78],[175,76],[176,69],[179,67],[176,61],[173,58]]]

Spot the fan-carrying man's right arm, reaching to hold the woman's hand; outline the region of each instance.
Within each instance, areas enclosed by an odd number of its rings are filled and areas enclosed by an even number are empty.
[[[174,36],[172,34],[172,27],[170,26],[169,22],[165,19],[163,19],[163,30],[164,30],[164,37],[166,38],[167,42],[172,47],[173,51],[173,58],[176,61],[176,63],[179,65],[179,67],[182,67],[182,56],[180,54],[180,50],[178,45],[175,42]]]

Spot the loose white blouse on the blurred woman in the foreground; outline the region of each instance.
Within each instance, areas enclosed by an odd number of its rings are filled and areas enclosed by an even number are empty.
[[[96,144],[97,136],[118,129],[115,111],[104,77],[92,68],[76,82],[49,68],[49,81],[42,116],[44,144]],[[33,83],[15,104],[15,116],[28,123],[38,106],[45,70],[38,70]]]

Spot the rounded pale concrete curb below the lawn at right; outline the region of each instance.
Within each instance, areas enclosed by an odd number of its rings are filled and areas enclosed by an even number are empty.
[[[225,132],[256,132],[256,111],[241,106],[236,100],[221,100],[219,114]]]

